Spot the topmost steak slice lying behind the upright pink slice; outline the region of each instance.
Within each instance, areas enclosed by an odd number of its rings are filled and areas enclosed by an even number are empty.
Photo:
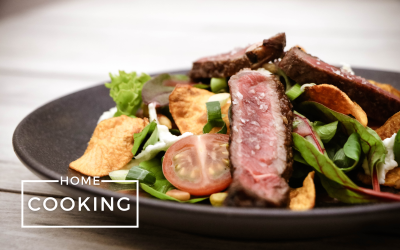
[[[285,33],[279,33],[270,39],[245,48],[201,58],[193,63],[189,75],[192,79],[228,77],[244,68],[257,69],[263,63],[281,57],[285,46]]]

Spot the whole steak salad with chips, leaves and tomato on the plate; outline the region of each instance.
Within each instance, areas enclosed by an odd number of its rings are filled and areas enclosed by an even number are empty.
[[[189,75],[110,74],[115,107],[70,168],[181,203],[400,201],[400,91],[285,45],[280,33]]]

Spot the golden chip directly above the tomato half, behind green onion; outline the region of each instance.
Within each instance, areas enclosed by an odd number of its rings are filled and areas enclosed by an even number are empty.
[[[207,123],[206,102],[214,93],[192,87],[189,85],[177,85],[169,96],[169,110],[181,133],[192,132],[195,135],[203,134],[203,127]],[[222,119],[229,128],[228,111],[231,104],[230,99],[221,108],[224,116]],[[220,128],[213,128],[210,133],[216,133]]]

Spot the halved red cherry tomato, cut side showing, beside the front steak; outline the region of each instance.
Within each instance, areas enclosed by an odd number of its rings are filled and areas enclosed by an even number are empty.
[[[176,188],[191,195],[210,195],[232,182],[229,136],[192,135],[174,143],[165,153],[163,172]]]

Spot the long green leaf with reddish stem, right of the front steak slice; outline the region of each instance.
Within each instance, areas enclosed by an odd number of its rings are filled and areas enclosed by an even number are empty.
[[[400,201],[400,195],[358,187],[311,142],[296,133],[292,133],[292,136],[294,148],[319,173],[323,186],[331,197],[346,203],[376,202],[378,200]]]

